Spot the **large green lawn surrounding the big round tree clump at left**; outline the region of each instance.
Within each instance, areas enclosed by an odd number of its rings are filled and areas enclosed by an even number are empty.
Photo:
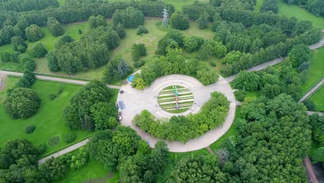
[[[6,80],[7,89],[15,85],[19,78],[9,77]],[[80,86],[77,85],[64,85],[64,89],[62,94],[58,96],[55,100],[50,101],[49,95],[55,94],[57,89],[59,89],[62,85],[57,82],[46,82],[37,80],[33,85],[33,89],[37,92],[39,98],[41,99],[41,105],[37,114],[31,116],[28,119],[11,119],[6,112],[3,110],[3,101],[6,99],[6,91],[3,90],[0,92],[0,146],[6,141],[16,138],[24,138],[32,141],[36,146],[42,143],[47,143],[48,139],[57,135],[61,137],[61,142],[56,146],[50,147],[45,154],[53,153],[54,151],[64,148],[65,146],[69,146],[72,143],[68,144],[63,141],[64,135],[71,130],[67,127],[64,117],[63,110],[66,103],[71,98],[72,94],[77,91]],[[36,130],[32,134],[26,134],[24,132],[24,128],[27,125],[35,125]],[[74,130],[75,134],[77,134],[76,141],[80,141],[86,137],[91,135],[91,132]],[[44,154],[44,155],[45,155]]]

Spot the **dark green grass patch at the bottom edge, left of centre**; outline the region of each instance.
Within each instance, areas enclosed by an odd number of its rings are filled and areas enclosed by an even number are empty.
[[[75,170],[69,171],[62,180],[56,183],[70,183],[70,182],[118,182],[118,173],[109,173],[100,162],[90,160],[86,166]]]

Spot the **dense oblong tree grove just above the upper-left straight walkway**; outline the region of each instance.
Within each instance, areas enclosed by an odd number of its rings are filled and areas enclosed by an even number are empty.
[[[71,39],[63,42],[66,43],[48,53],[48,67],[51,71],[62,70],[72,74],[107,64],[108,51],[118,46],[120,37],[115,30],[100,26],[82,35],[78,42]]]

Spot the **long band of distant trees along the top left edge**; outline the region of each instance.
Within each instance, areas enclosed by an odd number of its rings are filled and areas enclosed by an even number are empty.
[[[54,17],[62,24],[87,21],[91,15],[111,18],[116,10],[125,10],[129,7],[141,10],[145,17],[161,17],[163,8],[167,8],[170,15],[174,12],[174,6],[162,1],[115,1],[109,3],[107,1],[80,1],[78,3],[66,3],[66,6],[59,8],[46,8],[45,10],[2,11],[0,13],[0,28],[3,28],[3,22],[11,22],[15,25],[21,19],[26,19],[29,24],[46,26],[49,17]]]

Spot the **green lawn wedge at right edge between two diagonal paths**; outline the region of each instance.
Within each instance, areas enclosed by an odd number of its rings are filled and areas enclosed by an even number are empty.
[[[309,68],[309,75],[307,80],[302,85],[302,92],[306,94],[309,89],[314,87],[322,78],[324,78],[324,47],[314,51],[315,55],[312,58],[311,66]]]

